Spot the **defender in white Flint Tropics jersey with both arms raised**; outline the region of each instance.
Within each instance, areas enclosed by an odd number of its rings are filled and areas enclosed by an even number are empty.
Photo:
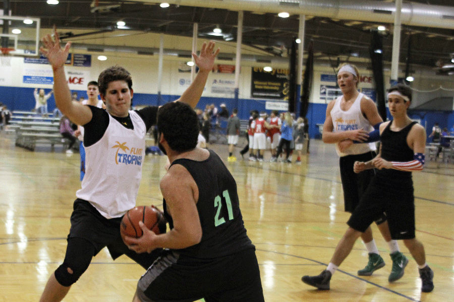
[[[121,66],[112,66],[98,78],[101,100],[106,110],[71,100],[66,82],[65,62],[71,43],[61,48],[59,35],[47,34],[40,51],[53,70],[55,103],[72,122],[85,128],[86,174],[76,192],[65,260],[49,277],[40,302],[58,302],[85,272],[91,259],[107,247],[112,259],[125,254],[145,269],[153,255],[130,250],[120,236],[123,215],[136,204],[145,135],[156,124],[157,106],[130,110],[132,77]],[[196,78],[178,101],[192,108],[198,103],[219,49],[214,42],[203,44],[200,55],[193,53],[199,67]]]

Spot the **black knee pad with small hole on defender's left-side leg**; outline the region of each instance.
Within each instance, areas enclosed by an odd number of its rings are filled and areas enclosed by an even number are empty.
[[[94,246],[81,238],[69,238],[63,264],[55,270],[55,279],[63,286],[71,286],[87,270],[93,258]]]

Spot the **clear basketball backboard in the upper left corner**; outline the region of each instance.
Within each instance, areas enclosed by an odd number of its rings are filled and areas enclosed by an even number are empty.
[[[37,56],[39,29],[39,18],[0,16],[0,47],[14,48],[10,54],[16,56]]]

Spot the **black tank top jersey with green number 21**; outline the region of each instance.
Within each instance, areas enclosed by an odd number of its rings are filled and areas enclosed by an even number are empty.
[[[237,183],[222,160],[212,150],[202,162],[179,159],[173,165],[185,167],[199,189],[197,211],[202,225],[202,240],[191,247],[178,250],[180,255],[198,259],[212,259],[255,248],[246,234],[241,215]],[[173,229],[172,217],[164,215]]]

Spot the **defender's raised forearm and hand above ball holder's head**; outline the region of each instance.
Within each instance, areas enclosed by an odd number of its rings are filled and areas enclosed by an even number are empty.
[[[191,83],[191,85],[186,89],[182,96],[177,100],[183,103],[190,105],[194,108],[202,96],[203,89],[205,88],[206,80],[210,71],[213,69],[214,59],[219,53],[219,48],[214,50],[215,43],[210,41],[208,45],[203,43],[200,54],[192,53],[196,65],[199,67],[199,72]]]

